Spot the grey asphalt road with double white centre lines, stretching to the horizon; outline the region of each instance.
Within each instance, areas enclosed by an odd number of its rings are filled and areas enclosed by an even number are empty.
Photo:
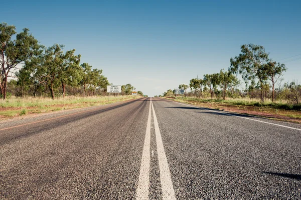
[[[0,199],[300,197],[300,124],[149,97],[0,123]]]

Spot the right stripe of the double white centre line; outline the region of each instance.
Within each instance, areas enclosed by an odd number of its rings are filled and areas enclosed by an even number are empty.
[[[158,159],[159,159],[162,198],[163,199],[176,199],[175,190],[174,190],[171,173],[170,173],[170,169],[168,166],[168,162],[167,162],[167,158],[166,158],[166,154],[165,154],[165,150],[164,150],[164,146],[163,146],[163,142],[162,142],[162,137],[161,137],[153,101],[150,100],[150,103],[152,104],[152,107],[153,107],[153,115],[154,115],[154,122],[155,122],[155,132],[156,132]]]

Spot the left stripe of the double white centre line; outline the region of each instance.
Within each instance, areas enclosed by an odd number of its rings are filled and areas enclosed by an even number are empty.
[[[152,99],[152,97],[150,97]],[[149,192],[149,166],[150,166],[150,118],[152,104],[149,103],[148,119],[146,125],[144,146],[140,166],[140,174],[136,192],[136,199],[148,199]]]

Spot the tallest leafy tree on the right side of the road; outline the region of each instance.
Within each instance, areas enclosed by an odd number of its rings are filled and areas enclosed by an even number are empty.
[[[241,53],[234,58],[230,58],[230,70],[242,74],[245,82],[258,79],[260,85],[260,97],[263,99],[264,82],[267,79],[265,64],[269,61],[268,53],[263,46],[255,44],[243,44]]]

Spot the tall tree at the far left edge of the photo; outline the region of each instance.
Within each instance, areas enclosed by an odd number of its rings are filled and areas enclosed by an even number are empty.
[[[12,40],[12,36],[16,33],[14,25],[8,25],[5,22],[0,23],[0,94],[3,99],[7,95],[8,77],[14,74],[17,65],[40,53],[41,45],[29,33],[28,28],[24,28],[22,32],[16,35],[16,39]]]

